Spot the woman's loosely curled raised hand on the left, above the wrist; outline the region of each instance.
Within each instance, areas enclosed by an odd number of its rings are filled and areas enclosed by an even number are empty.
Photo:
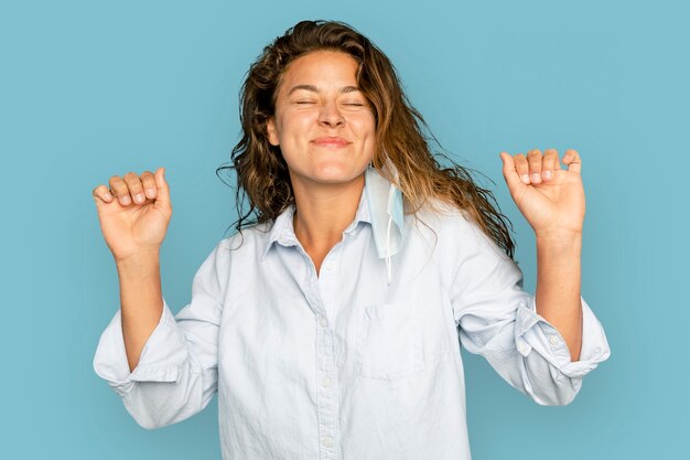
[[[141,176],[128,172],[111,176],[109,188],[94,189],[100,228],[116,261],[157,253],[163,243],[172,216],[164,173],[163,168]]]

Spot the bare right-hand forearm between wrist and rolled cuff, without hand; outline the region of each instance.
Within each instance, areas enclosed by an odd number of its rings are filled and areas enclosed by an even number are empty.
[[[582,346],[581,234],[537,235],[537,313],[561,333],[571,361]]]

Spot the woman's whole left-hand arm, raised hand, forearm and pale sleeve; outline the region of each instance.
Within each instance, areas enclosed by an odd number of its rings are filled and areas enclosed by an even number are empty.
[[[120,309],[100,336],[94,370],[144,428],[202,410],[217,387],[217,338],[229,257],[218,247],[196,272],[192,302],[173,317],[161,295],[159,249],[172,215],[163,169],[94,189],[120,280]]]

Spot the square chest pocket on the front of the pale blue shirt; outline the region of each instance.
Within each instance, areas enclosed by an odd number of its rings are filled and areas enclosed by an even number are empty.
[[[365,307],[357,336],[357,373],[400,379],[424,368],[421,309],[411,303]]]

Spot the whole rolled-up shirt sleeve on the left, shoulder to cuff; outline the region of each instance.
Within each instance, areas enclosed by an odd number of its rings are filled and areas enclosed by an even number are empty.
[[[193,416],[217,391],[218,330],[228,270],[228,252],[214,248],[194,276],[192,301],[173,315],[163,312],[130,372],[118,310],[103,332],[94,370],[122,398],[144,428],[158,428]]]

